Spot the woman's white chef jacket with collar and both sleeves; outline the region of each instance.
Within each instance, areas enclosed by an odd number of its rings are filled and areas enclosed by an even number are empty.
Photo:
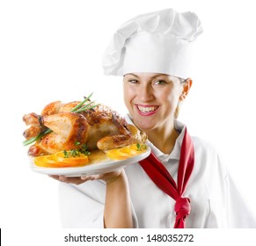
[[[129,119],[127,119],[129,121]],[[131,123],[131,122],[129,122]],[[180,133],[170,155],[147,143],[157,158],[177,180],[180,147],[185,126],[175,121]],[[246,207],[215,148],[192,137],[194,170],[184,197],[191,200],[187,228],[256,228],[256,219]],[[134,228],[173,228],[175,200],[162,192],[139,163],[125,168],[131,198]],[[106,185],[101,180],[82,185],[60,183],[60,211],[63,228],[103,228]]]

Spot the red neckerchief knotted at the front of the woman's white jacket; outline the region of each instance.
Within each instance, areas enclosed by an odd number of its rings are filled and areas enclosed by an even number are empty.
[[[168,170],[166,170],[165,165],[157,159],[153,152],[139,163],[152,181],[163,192],[176,200],[174,207],[176,212],[174,228],[185,228],[185,219],[190,213],[191,207],[190,199],[183,198],[182,194],[187,188],[187,181],[194,168],[194,145],[190,135],[187,133],[187,128],[185,128],[185,134],[180,149],[178,185],[176,185],[173,177]]]

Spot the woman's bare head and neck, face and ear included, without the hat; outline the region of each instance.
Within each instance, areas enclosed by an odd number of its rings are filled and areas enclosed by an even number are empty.
[[[177,108],[192,85],[187,79],[181,83],[176,76],[137,73],[124,76],[125,105],[135,126],[142,129],[150,141],[163,153],[171,153],[178,137],[173,130]],[[170,141],[170,137],[173,141]]]

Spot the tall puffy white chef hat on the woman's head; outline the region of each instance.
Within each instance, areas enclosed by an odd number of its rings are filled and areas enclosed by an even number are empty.
[[[201,33],[200,19],[189,11],[166,9],[132,18],[114,33],[106,48],[104,73],[147,72],[187,78],[192,43]]]

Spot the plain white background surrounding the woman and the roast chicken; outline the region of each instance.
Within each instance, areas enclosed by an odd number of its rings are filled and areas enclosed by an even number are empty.
[[[172,7],[194,11],[194,85],[179,119],[211,142],[256,206],[253,1],[6,0],[0,2],[0,228],[60,228],[57,182],[29,168],[22,116],[53,100],[93,98],[124,114],[121,77],[104,76],[102,54],[129,18]],[[70,198],[72,199],[72,198]]]

